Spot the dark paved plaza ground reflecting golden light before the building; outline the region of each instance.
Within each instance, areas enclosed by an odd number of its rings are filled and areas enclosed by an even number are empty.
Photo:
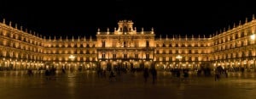
[[[255,99],[256,73],[229,73],[215,81],[214,76],[190,73],[187,80],[158,72],[156,83],[143,73],[117,75],[114,80],[99,78],[96,71],[73,71],[47,80],[37,71],[0,71],[1,99]]]

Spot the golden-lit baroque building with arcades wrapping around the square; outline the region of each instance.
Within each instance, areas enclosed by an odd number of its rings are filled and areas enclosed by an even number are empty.
[[[0,23],[0,69],[255,69],[256,21],[220,30],[210,36],[160,36],[154,28],[137,31],[120,20],[113,31],[84,37],[46,38],[17,25]]]

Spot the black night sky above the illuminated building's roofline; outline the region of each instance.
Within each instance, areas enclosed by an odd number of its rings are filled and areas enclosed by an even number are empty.
[[[3,0],[0,18],[43,36],[95,36],[97,28],[113,31],[120,19],[131,19],[140,31],[154,27],[156,35],[207,35],[239,20],[252,19],[252,2],[187,2],[173,0]]]

